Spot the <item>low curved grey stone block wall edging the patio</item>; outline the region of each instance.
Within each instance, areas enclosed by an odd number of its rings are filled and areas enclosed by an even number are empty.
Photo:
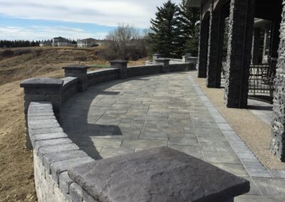
[[[91,72],[87,72],[86,67],[69,66],[64,68],[65,78],[32,78],[21,83],[25,93],[26,147],[33,149],[38,201],[96,201],[68,176],[68,169],[95,160],[63,132],[58,115],[61,104],[74,93],[121,78],[122,71],[123,76],[127,73],[128,77],[165,72],[165,63],[127,68],[125,61],[118,61],[116,65],[118,68]],[[189,65],[168,64],[167,70],[187,70]]]

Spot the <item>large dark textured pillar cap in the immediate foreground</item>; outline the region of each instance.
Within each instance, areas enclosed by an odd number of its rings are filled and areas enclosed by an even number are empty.
[[[98,201],[227,201],[249,181],[160,147],[73,167],[68,175]]]

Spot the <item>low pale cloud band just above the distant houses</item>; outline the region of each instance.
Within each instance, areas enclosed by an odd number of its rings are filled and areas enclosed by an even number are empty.
[[[42,40],[51,39],[56,36],[65,38],[104,38],[107,33],[88,33],[81,28],[71,28],[66,26],[31,26],[23,28],[19,26],[0,26],[0,39],[23,39]],[[21,37],[19,37],[21,36]]]

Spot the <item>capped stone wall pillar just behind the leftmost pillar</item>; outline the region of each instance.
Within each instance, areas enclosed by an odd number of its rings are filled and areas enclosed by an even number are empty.
[[[79,92],[86,91],[88,87],[88,77],[87,77],[88,68],[89,67],[83,66],[83,65],[68,65],[66,67],[63,67],[65,77],[79,78],[79,82],[78,82]]]

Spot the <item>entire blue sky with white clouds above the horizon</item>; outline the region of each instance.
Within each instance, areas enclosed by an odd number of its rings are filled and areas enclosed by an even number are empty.
[[[166,0],[0,0],[0,39],[100,38],[128,23],[148,28]],[[172,0],[180,3],[181,0]]]

